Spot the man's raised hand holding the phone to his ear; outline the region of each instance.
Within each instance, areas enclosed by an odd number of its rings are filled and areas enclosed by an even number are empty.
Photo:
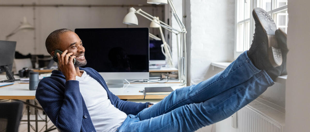
[[[57,53],[59,68],[66,77],[66,81],[75,80],[76,71],[73,64],[73,58],[76,56],[71,56],[73,53],[66,54],[67,52],[68,50],[65,50],[61,55]],[[70,59],[69,56],[71,56]]]

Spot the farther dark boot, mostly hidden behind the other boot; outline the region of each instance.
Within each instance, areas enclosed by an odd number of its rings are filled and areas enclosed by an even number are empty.
[[[268,75],[271,77],[272,80],[275,80],[278,76],[283,76],[283,75],[287,75],[286,72],[286,55],[287,52],[289,52],[288,48],[287,48],[287,44],[286,44],[286,33],[279,28],[278,30],[276,30],[275,33],[277,40],[278,40],[278,44],[280,46],[281,52],[282,52],[282,59],[283,62],[280,66],[272,68],[270,70],[266,70],[266,72],[268,73]]]

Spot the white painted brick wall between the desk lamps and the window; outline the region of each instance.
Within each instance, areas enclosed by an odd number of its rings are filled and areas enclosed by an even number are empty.
[[[190,84],[210,78],[222,69],[212,69],[211,62],[232,62],[234,50],[234,1],[191,0]],[[188,13],[186,15],[188,15]],[[187,17],[187,19],[189,19]]]

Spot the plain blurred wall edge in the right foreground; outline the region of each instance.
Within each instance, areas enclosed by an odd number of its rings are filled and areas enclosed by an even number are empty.
[[[310,130],[310,1],[289,0],[285,132]]]

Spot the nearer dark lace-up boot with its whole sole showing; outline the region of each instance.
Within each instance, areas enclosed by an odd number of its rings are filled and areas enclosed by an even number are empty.
[[[255,34],[247,54],[251,62],[260,70],[268,70],[282,64],[281,49],[275,31],[277,26],[270,15],[261,8],[254,8]]]

